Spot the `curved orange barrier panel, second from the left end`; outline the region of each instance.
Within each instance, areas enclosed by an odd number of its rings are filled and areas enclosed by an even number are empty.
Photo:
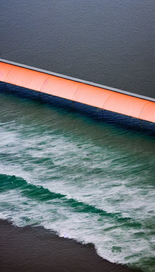
[[[5,82],[40,91],[50,75],[16,66],[6,77]]]

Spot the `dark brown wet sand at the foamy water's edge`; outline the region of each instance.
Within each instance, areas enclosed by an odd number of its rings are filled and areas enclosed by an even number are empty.
[[[0,220],[1,272],[134,272],[97,255],[93,245],[64,239],[43,227]]]

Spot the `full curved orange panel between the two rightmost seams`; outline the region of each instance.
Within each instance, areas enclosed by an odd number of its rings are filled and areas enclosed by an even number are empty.
[[[147,102],[147,100],[126,94],[114,93],[104,103],[103,109],[139,118],[140,112]]]

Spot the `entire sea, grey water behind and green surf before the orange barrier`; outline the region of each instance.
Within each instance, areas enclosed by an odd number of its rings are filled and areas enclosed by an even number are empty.
[[[155,97],[154,2],[1,1],[1,57]],[[155,270],[155,126],[0,85],[0,218]]]

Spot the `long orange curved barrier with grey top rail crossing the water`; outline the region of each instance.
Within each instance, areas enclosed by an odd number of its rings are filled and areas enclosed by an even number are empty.
[[[0,59],[0,81],[155,123],[155,99]]]

